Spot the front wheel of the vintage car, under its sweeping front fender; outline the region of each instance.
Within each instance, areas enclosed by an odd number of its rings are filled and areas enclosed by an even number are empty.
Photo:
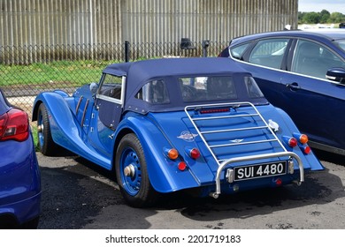
[[[51,137],[48,111],[43,103],[37,112],[37,139],[40,152],[46,156],[57,156],[62,151],[62,147],[58,146]]]

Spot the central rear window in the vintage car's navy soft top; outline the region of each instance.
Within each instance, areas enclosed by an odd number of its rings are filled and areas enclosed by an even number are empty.
[[[233,77],[180,78],[180,92],[185,102],[237,99]]]

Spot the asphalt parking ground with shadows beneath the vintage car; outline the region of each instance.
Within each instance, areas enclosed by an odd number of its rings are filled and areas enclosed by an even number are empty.
[[[345,228],[345,163],[317,153],[326,167],[300,186],[234,196],[165,196],[151,208],[126,206],[112,175],[78,157],[37,153],[42,171],[41,229],[334,229]]]

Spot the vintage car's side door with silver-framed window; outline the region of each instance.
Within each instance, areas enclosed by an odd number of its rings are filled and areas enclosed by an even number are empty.
[[[112,153],[113,133],[122,116],[125,85],[125,76],[103,73],[96,93],[88,142],[108,158]]]

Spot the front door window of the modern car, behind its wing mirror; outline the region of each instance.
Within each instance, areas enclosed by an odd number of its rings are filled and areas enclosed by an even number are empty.
[[[297,42],[291,71],[326,79],[326,71],[334,67],[345,67],[345,64],[331,50],[312,41]]]

